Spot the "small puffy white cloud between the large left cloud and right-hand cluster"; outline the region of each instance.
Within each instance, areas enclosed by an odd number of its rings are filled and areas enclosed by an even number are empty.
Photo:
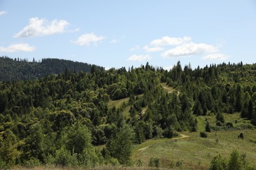
[[[104,39],[106,39],[106,37],[98,36],[94,33],[87,33],[78,37],[77,41],[75,41],[75,44],[78,44],[79,46],[89,46],[92,42],[94,42],[95,46],[97,46],[97,42],[100,42]]]

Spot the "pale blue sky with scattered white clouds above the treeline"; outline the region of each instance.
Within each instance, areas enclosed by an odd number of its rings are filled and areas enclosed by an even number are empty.
[[[0,56],[110,67],[255,63],[256,1],[0,0]]]

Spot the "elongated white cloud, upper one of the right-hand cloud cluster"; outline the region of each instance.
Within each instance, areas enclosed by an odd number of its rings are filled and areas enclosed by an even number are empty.
[[[175,38],[175,37],[161,37],[161,39],[155,39],[154,41],[150,42],[152,46],[166,46],[166,45],[179,45],[184,42],[190,42],[190,37],[182,37],[182,38]]]

